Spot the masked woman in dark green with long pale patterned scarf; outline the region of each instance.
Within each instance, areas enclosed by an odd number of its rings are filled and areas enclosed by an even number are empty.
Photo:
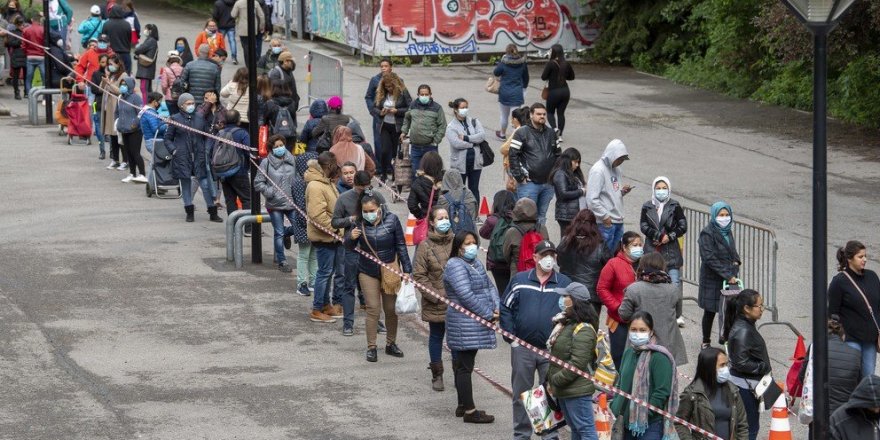
[[[672,354],[657,344],[654,319],[638,312],[629,323],[626,351],[617,368],[615,387],[636,398],[678,412],[678,375]],[[621,395],[614,397],[609,409],[617,417],[615,430],[623,430],[623,440],[661,440],[675,438],[675,424],[635,401]]]

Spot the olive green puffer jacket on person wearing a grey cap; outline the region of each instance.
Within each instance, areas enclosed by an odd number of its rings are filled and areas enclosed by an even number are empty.
[[[550,353],[581,371],[590,371],[596,359],[596,339],[596,329],[589,324],[566,324],[550,347]],[[547,370],[547,382],[553,387],[553,396],[560,399],[592,396],[596,392],[593,382],[553,362]]]

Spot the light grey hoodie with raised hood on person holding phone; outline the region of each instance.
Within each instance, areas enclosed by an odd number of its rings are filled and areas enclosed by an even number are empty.
[[[590,168],[587,179],[587,204],[598,222],[611,217],[613,223],[623,223],[623,183],[620,167],[611,168],[615,160],[628,156],[626,145],[614,139],[605,147],[602,159]]]

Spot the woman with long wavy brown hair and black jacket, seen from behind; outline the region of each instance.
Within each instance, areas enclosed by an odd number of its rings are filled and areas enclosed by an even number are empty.
[[[572,281],[587,286],[590,304],[596,309],[596,314],[601,315],[602,300],[596,292],[596,285],[599,283],[599,273],[614,254],[605,246],[593,211],[582,209],[574,216],[568,228],[562,231],[557,250],[559,271]]]

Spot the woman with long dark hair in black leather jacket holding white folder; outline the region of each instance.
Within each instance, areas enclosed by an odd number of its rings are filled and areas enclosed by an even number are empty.
[[[724,316],[724,339],[730,356],[730,381],[739,387],[749,420],[749,440],[758,438],[761,414],[755,388],[770,374],[770,355],[767,343],[755,322],[764,314],[764,298],[752,289],[746,289],[730,300]]]

